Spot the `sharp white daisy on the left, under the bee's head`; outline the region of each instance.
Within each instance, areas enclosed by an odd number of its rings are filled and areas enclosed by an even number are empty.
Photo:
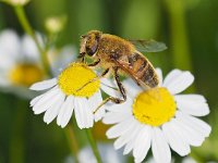
[[[93,114],[102,102],[101,90],[110,96],[117,95],[117,90],[111,88],[113,83],[106,78],[94,80],[80,89],[96,77],[96,73],[84,63],[72,63],[58,77],[34,84],[32,90],[47,90],[31,101],[34,113],[46,112],[44,121],[47,124],[58,116],[57,124],[64,127],[74,111],[80,128],[93,127],[94,121],[105,115],[104,106]]]

